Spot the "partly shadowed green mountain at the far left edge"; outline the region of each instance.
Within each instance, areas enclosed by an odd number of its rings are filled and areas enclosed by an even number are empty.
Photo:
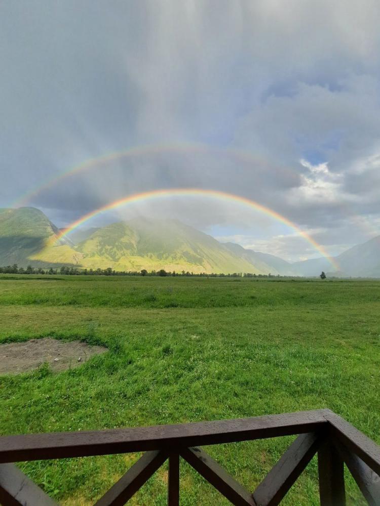
[[[77,264],[79,257],[66,241],[47,246],[59,232],[45,214],[35,207],[0,209],[0,265],[53,266]]]

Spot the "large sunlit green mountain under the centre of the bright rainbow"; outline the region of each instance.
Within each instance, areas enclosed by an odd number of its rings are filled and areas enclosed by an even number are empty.
[[[112,223],[77,244],[86,267],[115,270],[263,272],[210,235],[177,220]]]

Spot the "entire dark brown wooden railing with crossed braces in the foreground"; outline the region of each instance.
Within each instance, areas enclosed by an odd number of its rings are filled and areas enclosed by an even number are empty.
[[[296,434],[298,437],[253,493],[200,448]],[[281,502],[316,453],[323,506],[343,506],[346,502],[344,463],[368,504],[380,505],[380,447],[329,409],[135,429],[0,437],[0,503],[56,504],[10,462],[137,451],[145,453],[96,502],[97,506],[125,504],[166,460],[168,504],[179,504],[180,457],[232,504],[273,506]]]

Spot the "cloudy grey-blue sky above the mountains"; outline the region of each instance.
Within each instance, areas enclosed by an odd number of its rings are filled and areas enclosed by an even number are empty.
[[[0,207],[64,227],[137,192],[202,188],[275,210],[330,255],[379,235],[378,19],[377,0],[4,0]],[[140,215],[320,256],[291,227],[206,197],[86,226]]]

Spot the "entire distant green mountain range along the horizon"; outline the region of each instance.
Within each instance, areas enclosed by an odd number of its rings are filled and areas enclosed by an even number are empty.
[[[39,209],[0,209],[0,266],[17,263],[41,267],[75,266],[117,271],[141,269],[199,272],[250,272],[318,276],[323,270],[339,276],[380,277],[380,236],[335,258],[331,272],[325,258],[289,263],[274,255],[220,243],[177,220],[134,219],[79,230],[53,245],[59,229]]]

